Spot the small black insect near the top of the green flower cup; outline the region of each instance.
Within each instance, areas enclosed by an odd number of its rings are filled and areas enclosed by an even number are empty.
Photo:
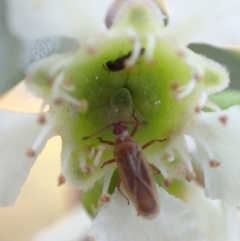
[[[141,48],[139,57],[144,53],[144,48]],[[110,72],[116,72],[116,71],[120,71],[123,70],[125,68],[125,60],[128,59],[131,56],[132,52],[129,52],[126,55],[123,55],[122,57],[119,57],[115,60],[109,60],[106,62],[105,65],[103,65],[103,68],[108,71],[108,73]]]

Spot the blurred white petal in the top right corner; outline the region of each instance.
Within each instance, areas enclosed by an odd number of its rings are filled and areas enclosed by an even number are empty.
[[[168,33],[182,44],[240,44],[239,0],[168,0]]]

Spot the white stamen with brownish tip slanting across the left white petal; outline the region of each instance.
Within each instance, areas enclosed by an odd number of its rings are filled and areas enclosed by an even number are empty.
[[[39,153],[40,149],[46,144],[46,142],[55,135],[53,132],[54,125],[53,123],[47,123],[42,127],[37,139],[33,145],[27,149],[26,154],[29,157],[33,157]]]

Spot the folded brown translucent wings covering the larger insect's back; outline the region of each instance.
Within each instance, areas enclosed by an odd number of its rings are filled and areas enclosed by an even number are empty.
[[[152,219],[159,214],[156,186],[150,166],[137,143],[124,145],[121,155],[115,156],[125,191],[143,218]]]

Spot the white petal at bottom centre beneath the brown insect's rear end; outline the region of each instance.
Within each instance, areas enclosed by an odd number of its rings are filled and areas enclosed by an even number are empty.
[[[190,208],[179,199],[158,189],[160,215],[153,220],[137,216],[132,204],[127,204],[118,191],[102,207],[93,221],[91,234],[98,241],[198,241],[205,238],[196,229],[196,218]]]

